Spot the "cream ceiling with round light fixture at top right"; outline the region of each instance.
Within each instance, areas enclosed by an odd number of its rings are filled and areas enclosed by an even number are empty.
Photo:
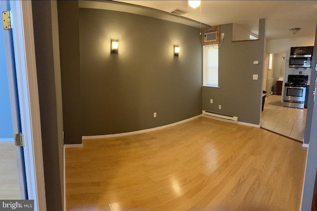
[[[210,26],[236,23],[258,34],[259,19],[266,19],[266,39],[315,37],[316,0],[202,0],[192,8],[187,0],[118,0],[170,12],[176,8],[189,11],[183,17]],[[297,34],[289,28],[299,27]]]

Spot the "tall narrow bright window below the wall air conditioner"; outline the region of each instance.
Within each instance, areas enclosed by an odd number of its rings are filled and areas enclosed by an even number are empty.
[[[218,87],[218,45],[203,47],[203,85]]]

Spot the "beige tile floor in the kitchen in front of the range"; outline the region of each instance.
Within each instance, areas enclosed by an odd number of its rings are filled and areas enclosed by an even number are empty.
[[[265,99],[261,127],[269,131],[304,140],[307,109],[281,106],[281,96],[271,95]]]

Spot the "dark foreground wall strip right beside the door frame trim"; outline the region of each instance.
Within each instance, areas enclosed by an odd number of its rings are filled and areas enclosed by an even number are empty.
[[[47,211],[63,210],[63,140],[58,65],[54,63],[51,1],[32,1]],[[55,17],[54,17],[55,18]],[[53,27],[52,27],[53,26]]]

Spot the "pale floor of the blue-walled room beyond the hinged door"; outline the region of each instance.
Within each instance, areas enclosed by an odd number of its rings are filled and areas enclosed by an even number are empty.
[[[20,199],[13,141],[0,141],[0,199]]]

